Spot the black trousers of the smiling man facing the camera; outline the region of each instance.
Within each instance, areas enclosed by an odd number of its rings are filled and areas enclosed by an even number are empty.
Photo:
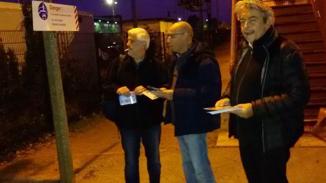
[[[280,149],[263,153],[261,138],[240,142],[240,157],[249,183],[287,183],[286,163],[290,150]]]

